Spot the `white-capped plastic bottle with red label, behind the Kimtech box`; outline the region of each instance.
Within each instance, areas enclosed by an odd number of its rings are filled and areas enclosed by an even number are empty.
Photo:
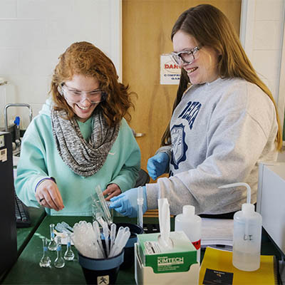
[[[185,205],[182,214],[175,217],[175,231],[183,231],[197,249],[197,262],[200,262],[201,254],[201,227],[202,219],[195,214],[195,207]]]

